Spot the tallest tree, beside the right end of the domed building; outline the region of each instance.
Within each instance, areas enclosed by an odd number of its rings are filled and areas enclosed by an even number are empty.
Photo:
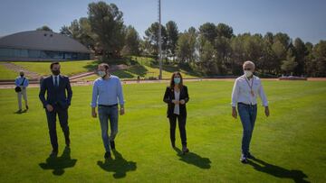
[[[96,47],[101,50],[103,59],[120,57],[125,38],[122,16],[117,5],[108,5],[102,1],[89,4],[91,32],[95,34]]]

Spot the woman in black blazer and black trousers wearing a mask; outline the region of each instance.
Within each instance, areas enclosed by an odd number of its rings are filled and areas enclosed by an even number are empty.
[[[180,131],[183,153],[188,152],[186,120],[187,108],[189,101],[187,87],[183,85],[183,79],[179,72],[173,73],[170,86],[167,87],[163,101],[168,104],[168,120],[170,124],[170,140],[173,148],[176,147],[176,125]]]

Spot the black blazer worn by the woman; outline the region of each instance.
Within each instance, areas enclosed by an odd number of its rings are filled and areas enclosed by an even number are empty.
[[[175,99],[174,88],[167,87],[166,92],[165,92],[164,97],[163,97],[163,101],[168,104],[168,117],[171,116],[172,114],[174,114],[175,104],[172,103],[172,100],[174,100],[174,99]],[[189,101],[189,96],[188,96],[188,93],[187,93],[187,87],[186,86],[183,86],[180,89],[180,98],[179,98],[179,100],[185,100],[185,102],[186,102],[184,105],[179,105],[179,108],[180,108],[180,114],[179,115],[186,117],[187,116],[186,104]]]

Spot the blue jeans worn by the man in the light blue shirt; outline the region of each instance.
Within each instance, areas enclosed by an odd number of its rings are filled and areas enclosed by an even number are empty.
[[[105,151],[110,151],[110,141],[114,141],[118,133],[118,105],[102,106],[98,108],[99,118],[101,123],[101,137]],[[110,120],[110,136],[108,134]]]

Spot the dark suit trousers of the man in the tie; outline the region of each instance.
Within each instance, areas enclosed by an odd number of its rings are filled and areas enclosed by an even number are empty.
[[[62,127],[64,139],[66,144],[70,142],[69,139],[69,126],[68,126],[68,109],[63,109],[59,105],[53,105],[53,111],[49,112],[45,109],[48,128],[50,134],[50,141],[53,146],[53,151],[58,151],[58,137],[56,133],[56,115],[59,116],[59,122]]]

